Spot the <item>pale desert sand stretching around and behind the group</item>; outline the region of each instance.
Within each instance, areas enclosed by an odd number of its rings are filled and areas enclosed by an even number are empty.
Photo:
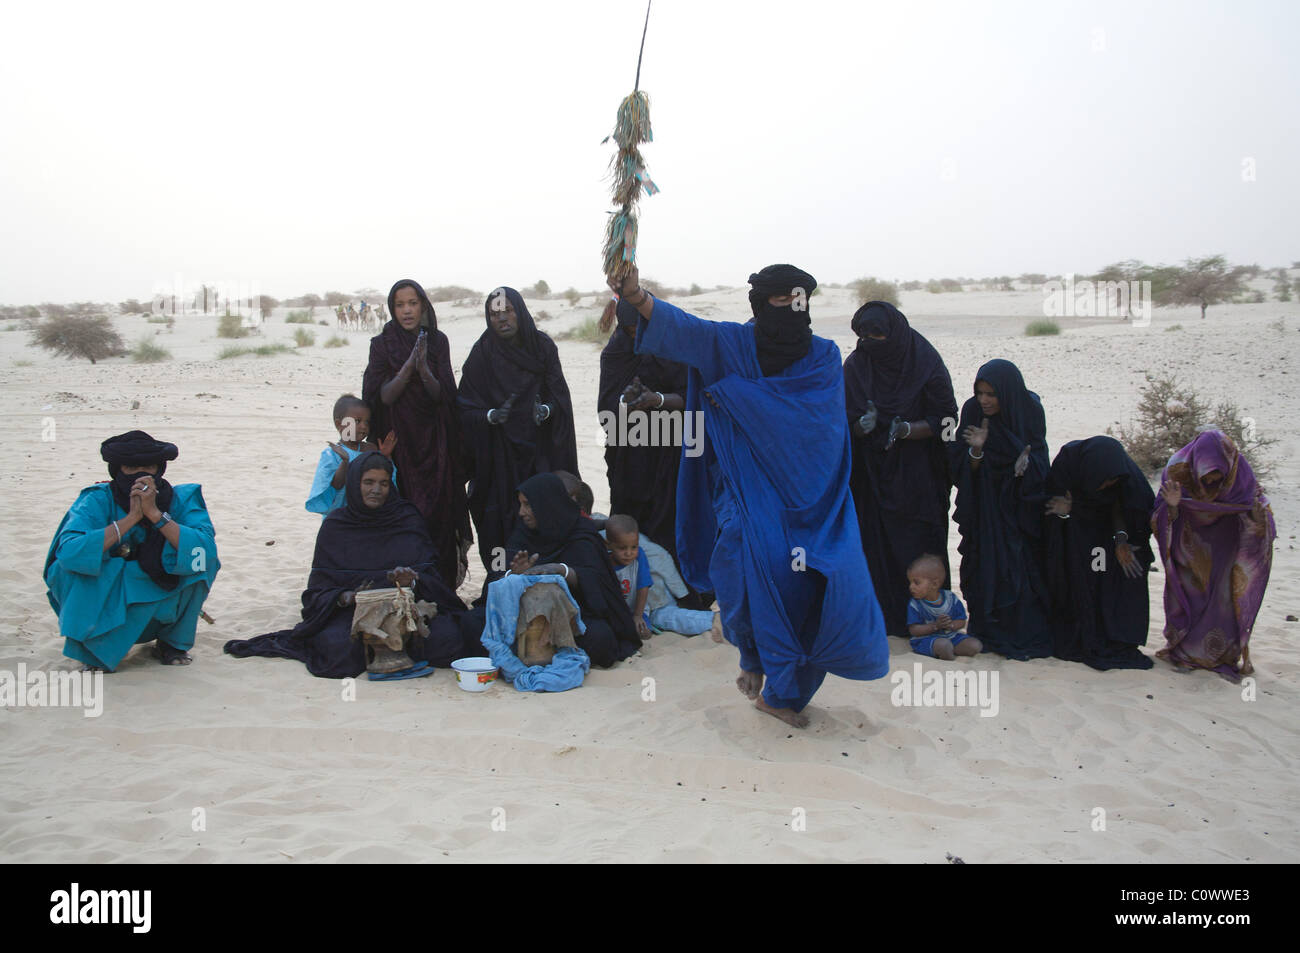
[[[0,670],[74,668],[42,567],[77,491],[107,478],[99,443],[108,436],[140,428],[179,446],[168,478],[203,484],[222,563],[207,603],[216,624],[200,623],[192,666],[164,668],[138,647],[107,677],[100,718],[0,711],[0,858],[1300,861],[1300,623],[1284,621],[1300,615],[1300,304],[1223,304],[1204,321],[1196,308],[1157,309],[1148,328],[1062,319],[1060,337],[1027,338],[1041,300],[1034,291],[911,293],[902,309],[942,354],[958,403],[983,361],[1015,361],[1043,397],[1053,452],[1127,423],[1147,371],[1236,400],[1261,434],[1280,438],[1268,486],[1279,538],[1251,644],[1254,699],[1160,660],[1149,672],[1096,672],[980,655],[927,666],[998,672],[996,716],[896,707],[888,679],[832,676],[798,732],[736,690],[733,647],[663,634],[563,694],[504,683],[468,694],[439,671],[390,684],[363,677],[344,701],[341,683],[296,662],[234,659],[221,646],[298,619],[320,525],[303,501],[334,438],[333,400],[360,390],[368,334],[346,333],[348,346],[325,350],[335,330],[317,326],[313,347],[217,360],[231,342],[216,337],[214,316],[179,316],[173,330],[120,317],[129,343],[156,333],[173,359],[92,367],[29,347],[21,330],[0,333],[0,412],[13,437],[0,459]],[[706,317],[748,316],[744,290],[679,303]],[[530,302],[554,315],[541,325],[552,334],[599,304]],[[812,299],[815,332],[844,355],[855,304],[846,290]],[[291,343],[283,315],[254,342]],[[316,315],[333,325],[328,309]],[[484,326],[481,303],[439,306],[439,319],[459,377]],[[603,510],[599,348],[559,347],[582,476]],[[53,439],[43,441],[49,421]],[[949,549],[956,568],[956,528]],[[1149,577],[1148,653],[1164,644],[1164,580]],[[462,594],[480,584],[481,572]],[[890,642],[893,667],[911,671],[920,657]],[[644,699],[645,679],[654,701]]]

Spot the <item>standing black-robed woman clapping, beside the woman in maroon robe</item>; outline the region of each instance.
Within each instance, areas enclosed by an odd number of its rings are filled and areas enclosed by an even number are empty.
[[[460,372],[460,411],[469,475],[469,514],[489,571],[519,515],[516,490],[534,473],[575,476],[573,403],[559,350],[537,329],[519,291],[499,287],[484,304],[488,329]],[[404,480],[404,477],[403,477]]]

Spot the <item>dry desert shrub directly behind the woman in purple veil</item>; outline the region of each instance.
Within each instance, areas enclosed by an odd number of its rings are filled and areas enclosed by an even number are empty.
[[[1145,473],[1158,473],[1174,451],[1191,443],[1206,428],[1231,437],[1261,482],[1273,473],[1275,467],[1268,459],[1268,450],[1278,442],[1277,438],[1260,437],[1254,420],[1243,417],[1231,400],[1210,406],[1209,400],[1174,377],[1148,376],[1138,412],[1128,426],[1106,428],[1106,433],[1119,438]]]

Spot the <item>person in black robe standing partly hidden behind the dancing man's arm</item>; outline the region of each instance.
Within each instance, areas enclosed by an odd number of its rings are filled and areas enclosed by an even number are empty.
[[[618,325],[601,351],[597,411],[614,415],[614,426],[618,428],[621,420],[620,398],[627,394],[632,402],[624,404],[624,415],[642,411],[651,420],[649,432],[667,433],[668,429],[658,425],[658,419],[662,413],[681,416],[686,406],[686,365],[651,354],[637,354],[637,309],[620,300],[615,313]],[[675,433],[684,432],[677,429]],[[610,512],[634,519],[640,530],[668,550],[673,560],[677,559],[677,469],[681,467],[681,452],[677,445],[633,447],[615,441],[604,447]]]

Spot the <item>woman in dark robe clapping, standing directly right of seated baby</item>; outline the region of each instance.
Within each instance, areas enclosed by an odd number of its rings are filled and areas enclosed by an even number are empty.
[[[957,433],[948,450],[966,631],[1008,658],[1050,655],[1043,506],[1052,464],[1043,403],[1015,364],[991,360],[975,376]]]

